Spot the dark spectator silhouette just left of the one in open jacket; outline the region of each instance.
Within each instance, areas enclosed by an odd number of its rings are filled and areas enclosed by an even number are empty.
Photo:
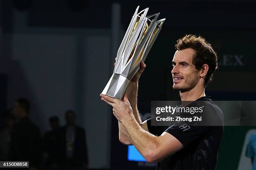
[[[44,134],[44,151],[47,153],[46,167],[58,169],[59,164],[59,117],[52,116],[49,118],[51,130]]]

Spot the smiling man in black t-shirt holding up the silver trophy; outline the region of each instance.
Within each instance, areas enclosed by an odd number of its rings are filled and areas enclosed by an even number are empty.
[[[202,37],[186,35],[177,40],[175,48],[177,51],[172,60],[173,88],[180,91],[182,103],[205,101],[210,109],[205,112],[214,114],[220,124],[223,123],[221,110],[205,96],[205,87],[217,68],[217,55],[211,45]],[[141,69],[128,85],[123,101],[100,95],[101,100],[113,107],[113,114],[118,119],[120,142],[133,144],[147,162],[158,162],[160,170],[215,169],[223,126],[174,124],[164,129],[152,126],[152,119],[141,122],[137,90],[138,79],[145,67],[141,62]]]

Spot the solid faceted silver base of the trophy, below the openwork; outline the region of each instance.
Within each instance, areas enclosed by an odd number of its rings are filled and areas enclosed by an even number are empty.
[[[113,73],[101,94],[122,100],[129,82],[130,80],[127,77]]]

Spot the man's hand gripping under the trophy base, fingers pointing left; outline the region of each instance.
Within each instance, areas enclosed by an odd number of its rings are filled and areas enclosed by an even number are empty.
[[[101,100],[113,107],[113,115],[121,123],[132,119],[135,120],[127,94],[124,95],[123,101],[102,94],[100,94],[100,97],[102,97]]]

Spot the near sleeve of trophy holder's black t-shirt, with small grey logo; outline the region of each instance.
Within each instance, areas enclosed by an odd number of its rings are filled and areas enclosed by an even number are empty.
[[[212,126],[191,126],[182,122],[169,127],[165,132],[177,138],[185,148],[192,143],[198,143],[212,128]]]

